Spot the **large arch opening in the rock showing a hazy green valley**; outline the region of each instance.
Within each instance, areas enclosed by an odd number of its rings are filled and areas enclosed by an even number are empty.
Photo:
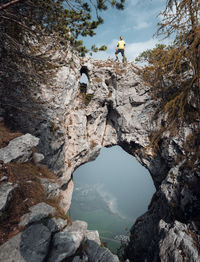
[[[133,156],[120,146],[102,148],[93,162],[73,174],[74,192],[70,215],[98,230],[102,242],[116,252],[126,228],[147,211],[155,192],[153,180]]]

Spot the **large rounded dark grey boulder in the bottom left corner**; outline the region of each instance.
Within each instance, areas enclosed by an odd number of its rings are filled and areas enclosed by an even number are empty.
[[[42,224],[31,225],[0,247],[0,262],[42,262],[49,251],[51,232]]]

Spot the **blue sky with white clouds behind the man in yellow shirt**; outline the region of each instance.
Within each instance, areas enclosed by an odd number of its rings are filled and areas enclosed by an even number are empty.
[[[114,58],[120,35],[126,41],[126,56],[129,61],[142,51],[153,48],[159,40],[153,38],[159,21],[158,14],[165,8],[166,0],[126,0],[123,11],[109,8],[102,12],[104,24],[96,30],[96,36],[84,39],[89,48],[92,44],[107,45],[106,52],[99,52],[97,59]]]

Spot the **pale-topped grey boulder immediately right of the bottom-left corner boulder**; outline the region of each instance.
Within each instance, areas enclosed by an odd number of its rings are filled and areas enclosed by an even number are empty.
[[[52,250],[48,262],[60,262],[75,254],[87,230],[87,223],[74,221],[71,226],[53,237]]]

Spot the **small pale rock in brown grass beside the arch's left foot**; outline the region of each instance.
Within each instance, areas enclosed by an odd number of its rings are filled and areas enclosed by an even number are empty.
[[[44,192],[47,198],[58,197],[60,194],[59,185],[52,179],[40,178],[41,185],[44,188]]]

